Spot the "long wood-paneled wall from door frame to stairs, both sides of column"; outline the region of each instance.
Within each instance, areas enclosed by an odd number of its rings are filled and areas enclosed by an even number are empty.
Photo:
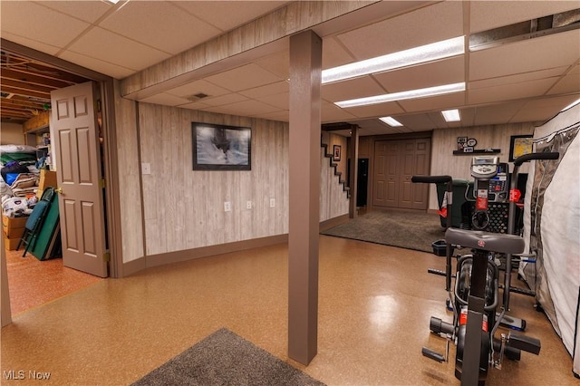
[[[123,106],[117,118],[124,262],[288,232],[287,123],[139,103],[138,132],[131,129],[135,110]],[[194,171],[192,121],[251,127],[252,170]],[[150,164],[150,174],[135,173],[140,162]],[[348,213],[348,199],[322,148],[321,165],[324,221]]]

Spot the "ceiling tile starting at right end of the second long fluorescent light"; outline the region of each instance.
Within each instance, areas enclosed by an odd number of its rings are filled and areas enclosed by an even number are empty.
[[[539,79],[530,82],[502,84],[485,89],[469,90],[469,104],[494,101],[510,101],[545,94],[558,78]]]

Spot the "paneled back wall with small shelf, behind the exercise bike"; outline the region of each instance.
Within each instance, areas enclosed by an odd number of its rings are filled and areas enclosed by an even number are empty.
[[[453,155],[457,150],[457,138],[468,137],[478,140],[475,147],[477,150],[499,149],[501,152],[490,154],[498,156],[500,162],[509,159],[509,144],[512,135],[532,134],[534,127],[539,122],[511,123],[504,125],[475,126],[459,129],[433,130],[431,172],[432,176],[449,175],[454,179],[472,179],[469,174],[469,166],[472,156]],[[513,169],[513,163],[509,163],[509,170]],[[521,173],[527,173],[527,165],[520,169]],[[430,186],[429,209],[436,210],[437,190],[434,185]]]

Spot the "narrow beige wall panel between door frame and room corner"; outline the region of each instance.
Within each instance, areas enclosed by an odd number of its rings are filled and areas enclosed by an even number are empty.
[[[140,194],[140,160],[136,103],[119,97],[115,82],[115,125],[121,210],[123,263],[144,255]]]

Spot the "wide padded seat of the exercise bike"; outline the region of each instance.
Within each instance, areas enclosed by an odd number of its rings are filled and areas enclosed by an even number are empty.
[[[459,246],[502,254],[521,254],[524,251],[524,239],[520,236],[479,230],[450,227],[445,232],[445,241]]]

